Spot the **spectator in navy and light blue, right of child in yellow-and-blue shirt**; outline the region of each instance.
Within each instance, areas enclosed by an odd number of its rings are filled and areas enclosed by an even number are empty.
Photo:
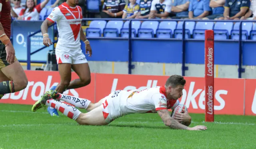
[[[140,0],[140,11],[137,13],[136,19],[147,19],[150,14],[152,0]]]

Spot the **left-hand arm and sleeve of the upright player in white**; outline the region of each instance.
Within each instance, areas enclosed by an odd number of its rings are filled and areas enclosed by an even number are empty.
[[[52,10],[51,14],[44,20],[44,22],[41,25],[41,32],[43,34],[43,42],[44,45],[49,47],[49,45],[52,44],[51,39],[49,38],[48,35],[48,27],[54,22],[58,21],[60,19],[60,8],[56,7]]]

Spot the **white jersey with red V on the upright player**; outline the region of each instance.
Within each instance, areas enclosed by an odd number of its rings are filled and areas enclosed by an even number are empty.
[[[70,7],[66,2],[54,8],[47,20],[57,22],[59,33],[56,50],[70,51],[81,49],[80,28],[82,22],[80,6]]]

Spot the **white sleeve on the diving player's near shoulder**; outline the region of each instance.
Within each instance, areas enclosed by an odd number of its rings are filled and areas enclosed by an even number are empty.
[[[151,100],[154,102],[156,111],[167,109],[167,99],[163,94],[153,94]]]

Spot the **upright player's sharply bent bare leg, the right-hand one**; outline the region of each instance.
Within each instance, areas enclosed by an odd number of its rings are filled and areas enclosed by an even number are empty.
[[[73,64],[71,67],[79,76],[79,78],[72,80],[67,89],[80,88],[90,84],[91,73],[88,63]]]

